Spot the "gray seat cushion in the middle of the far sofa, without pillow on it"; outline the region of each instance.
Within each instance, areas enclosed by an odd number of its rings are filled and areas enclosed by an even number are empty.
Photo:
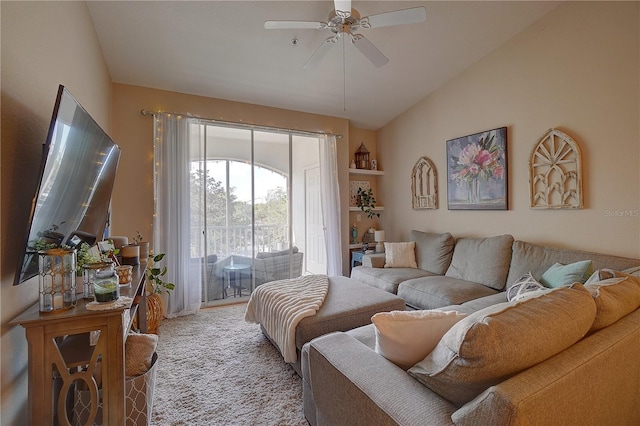
[[[490,287],[459,278],[428,276],[406,280],[398,286],[398,296],[416,309],[438,309],[498,293]]]

